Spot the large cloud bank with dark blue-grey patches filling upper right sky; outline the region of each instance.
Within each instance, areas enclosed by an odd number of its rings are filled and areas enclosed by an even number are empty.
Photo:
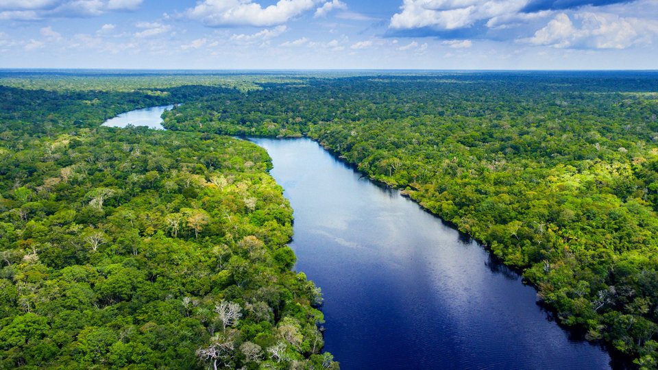
[[[626,49],[649,45],[658,35],[658,21],[650,15],[652,9],[658,11],[657,1],[404,0],[400,12],[391,17],[389,36],[482,38],[556,48]],[[641,15],[624,16],[626,12]]]

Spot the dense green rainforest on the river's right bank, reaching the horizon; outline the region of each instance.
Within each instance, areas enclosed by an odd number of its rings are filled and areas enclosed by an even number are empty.
[[[310,136],[520,269],[564,325],[658,361],[658,74],[426,73],[224,90],[169,130]]]

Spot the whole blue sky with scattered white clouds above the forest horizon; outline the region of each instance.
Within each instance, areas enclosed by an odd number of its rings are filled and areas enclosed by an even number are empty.
[[[0,68],[658,69],[658,0],[0,0]]]

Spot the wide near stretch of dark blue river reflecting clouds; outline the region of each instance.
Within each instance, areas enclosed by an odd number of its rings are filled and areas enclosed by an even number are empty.
[[[343,369],[607,369],[536,292],[398,191],[308,139],[252,139],[295,210],[298,271],[322,288],[326,351]]]

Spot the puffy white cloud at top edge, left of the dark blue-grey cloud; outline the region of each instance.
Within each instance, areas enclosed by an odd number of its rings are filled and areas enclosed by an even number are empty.
[[[522,10],[528,0],[404,0],[402,12],[394,14],[390,27],[413,29],[459,29],[477,21]]]

